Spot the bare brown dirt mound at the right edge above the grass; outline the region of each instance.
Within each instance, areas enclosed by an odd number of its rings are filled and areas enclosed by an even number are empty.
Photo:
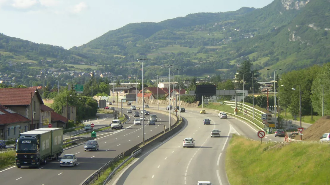
[[[330,116],[323,116],[302,132],[304,134],[302,139],[304,141],[319,141],[320,137],[327,132],[330,132]]]

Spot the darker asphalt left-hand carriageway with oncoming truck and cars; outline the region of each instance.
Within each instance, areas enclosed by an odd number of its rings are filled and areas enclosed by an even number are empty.
[[[126,110],[125,110],[126,111]],[[151,112],[152,113],[152,112]],[[145,139],[154,136],[163,130],[163,125],[168,124],[168,116],[156,113],[158,122],[156,126],[145,125]],[[145,124],[148,123],[146,117]],[[174,120],[172,120],[174,121]],[[16,166],[0,171],[3,184],[35,184],[57,185],[80,184],[92,173],[121,152],[142,142],[142,126],[133,125],[133,119],[124,125],[122,130],[105,130],[97,133],[99,151],[84,151],[83,145],[73,146],[64,151],[64,154],[75,154],[78,159],[76,167],[60,168],[58,161],[48,161],[38,169],[21,168]]]

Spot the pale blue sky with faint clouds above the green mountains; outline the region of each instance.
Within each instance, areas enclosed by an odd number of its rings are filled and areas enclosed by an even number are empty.
[[[273,0],[0,0],[0,33],[70,49],[129,23],[262,8]]]

